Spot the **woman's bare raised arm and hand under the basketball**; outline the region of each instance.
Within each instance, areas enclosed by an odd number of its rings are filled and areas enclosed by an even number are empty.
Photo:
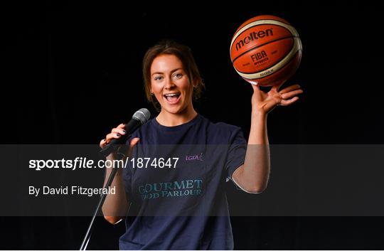
[[[265,190],[270,176],[270,146],[267,135],[267,114],[277,105],[291,105],[303,92],[299,85],[291,85],[282,90],[279,85],[265,93],[257,85],[252,85],[252,114],[250,137],[245,161],[233,172],[232,179],[247,193],[261,193]]]

